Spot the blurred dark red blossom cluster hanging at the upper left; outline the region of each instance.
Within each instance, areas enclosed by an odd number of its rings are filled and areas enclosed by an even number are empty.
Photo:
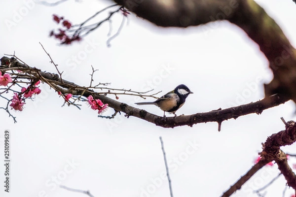
[[[54,36],[55,38],[61,40],[61,44],[71,44],[73,41],[80,41],[81,37],[79,35],[67,35],[67,30],[72,27],[72,24],[68,20],[64,20],[64,17],[58,17],[53,15],[53,20],[58,24],[62,21],[62,26],[64,29],[58,29],[58,32],[55,33],[53,30],[49,33],[49,36]]]

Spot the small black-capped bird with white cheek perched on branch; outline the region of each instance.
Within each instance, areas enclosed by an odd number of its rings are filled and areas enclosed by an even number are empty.
[[[168,92],[154,102],[137,102],[138,105],[153,104],[163,110],[163,117],[165,118],[165,112],[170,112],[177,116],[175,112],[184,105],[185,99],[189,94],[193,94],[187,86],[181,84],[175,88],[175,90]]]

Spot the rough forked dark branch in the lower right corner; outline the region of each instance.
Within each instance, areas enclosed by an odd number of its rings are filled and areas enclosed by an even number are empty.
[[[279,131],[267,137],[263,144],[263,150],[259,155],[261,159],[255,164],[246,175],[242,176],[233,186],[227,190],[222,197],[229,197],[236,190],[251,178],[261,167],[269,162],[275,161],[281,174],[287,180],[288,186],[296,190],[296,175],[287,162],[287,155],[280,149],[281,146],[291,145],[296,141],[296,124],[294,121],[288,121],[286,130]]]

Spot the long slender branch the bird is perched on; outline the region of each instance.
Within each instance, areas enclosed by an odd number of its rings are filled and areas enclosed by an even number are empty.
[[[10,67],[7,68],[6,62],[10,62]],[[8,70],[22,70],[28,76],[35,80],[41,80],[42,82],[48,84],[54,90],[61,92],[63,94],[72,94],[74,96],[83,96],[88,97],[92,95],[96,99],[102,100],[104,103],[108,103],[109,107],[113,108],[115,111],[125,113],[126,117],[134,116],[137,118],[141,118],[146,120],[150,123],[153,123],[157,126],[164,127],[164,128],[174,128],[178,126],[190,126],[192,127],[194,124],[197,123],[206,123],[206,122],[218,122],[221,123],[222,121],[228,119],[236,119],[239,116],[251,114],[251,113],[262,113],[263,110],[280,105],[285,103],[289,99],[282,97],[280,95],[274,95],[269,98],[265,98],[259,100],[257,102],[251,102],[249,104],[244,104],[236,107],[230,107],[227,109],[219,109],[205,113],[196,113],[192,115],[181,115],[175,117],[166,117],[165,119],[162,116],[157,116],[147,112],[146,110],[139,109],[136,107],[132,107],[127,105],[126,103],[118,102],[114,99],[106,97],[107,95],[130,95],[130,96],[138,96],[141,98],[147,97],[154,97],[155,94],[145,95],[143,93],[133,93],[130,90],[121,90],[121,92],[113,92],[112,89],[109,89],[106,92],[95,92],[94,90],[102,90],[108,89],[106,87],[83,87],[76,85],[73,82],[67,81],[63,79],[61,81],[58,74],[53,74],[49,72],[43,72],[35,67],[30,67],[26,64],[22,64],[18,62],[15,58],[1,58],[1,71],[8,71]],[[6,66],[6,67],[4,67]],[[118,89],[114,89],[118,90]]]

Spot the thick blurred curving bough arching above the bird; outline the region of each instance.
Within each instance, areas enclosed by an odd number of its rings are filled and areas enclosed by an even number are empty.
[[[296,102],[296,50],[254,0],[112,1],[162,27],[184,28],[228,20],[245,31],[269,61],[274,78],[264,87],[265,97],[282,94]]]

